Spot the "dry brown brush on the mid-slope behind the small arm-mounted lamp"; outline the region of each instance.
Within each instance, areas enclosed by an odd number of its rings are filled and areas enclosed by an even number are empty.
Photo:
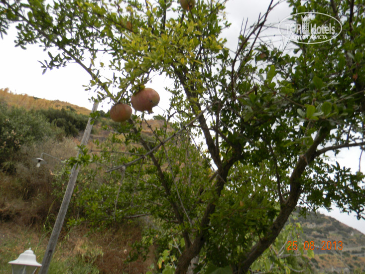
[[[47,217],[58,212],[60,201],[52,195],[55,170],[62,163],[43,155],[47,164],[39,168],[32,161],[46,152],[61,160],[75,156],[76,145],[72,139],[48,139],[42,144],[23,147],[16,159],[16,173],[0,173],[0,220],[15,221],[25,225],[43,226]]]

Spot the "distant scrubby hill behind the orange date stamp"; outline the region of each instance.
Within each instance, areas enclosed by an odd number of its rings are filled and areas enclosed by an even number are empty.
[[[306,218],[297,217],[303,229],[297,241],[314,242],[315,257],[311,259],[311,264],[315,273],[365,274],[363,233],[320,213],[307,213]],[[340,241],[342,250],[339,250]]]

